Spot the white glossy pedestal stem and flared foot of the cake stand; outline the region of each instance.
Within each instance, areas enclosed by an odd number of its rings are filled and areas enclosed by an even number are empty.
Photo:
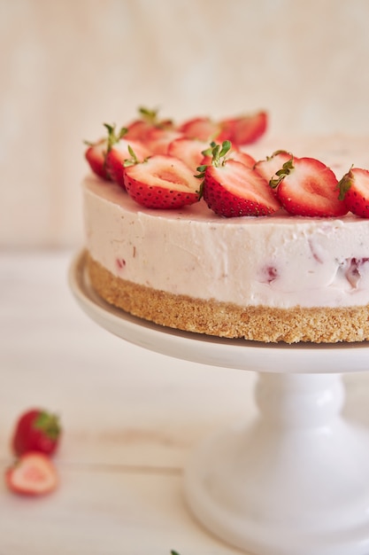
[[[257,400],[191,457],[196,518],[256,555],[368,555],[369,434],[341,417],[341,376],[260,374]]]

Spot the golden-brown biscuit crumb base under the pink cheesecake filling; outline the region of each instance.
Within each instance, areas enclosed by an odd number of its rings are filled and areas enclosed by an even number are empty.
[[[158,291],[115,277],[87,254],[91,285],[104,301],[155,324],[185,332],[264,343],[337,343],[369,339],[369,306],[274,309],[240,307]]]

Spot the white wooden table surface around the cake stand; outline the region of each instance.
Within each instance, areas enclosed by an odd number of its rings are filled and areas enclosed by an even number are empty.
[[[0,481],[0,555],[240,553],[192,518],[182,471],[212,429],[253,417],[255,374],[158,355],[104,331],[69,291],[73,254],[0,253],[0,471],[20,412],[56,410],[64,427],[55,493],[23,498]],[[369,426],[369,375],[345,384],[345,410]]]

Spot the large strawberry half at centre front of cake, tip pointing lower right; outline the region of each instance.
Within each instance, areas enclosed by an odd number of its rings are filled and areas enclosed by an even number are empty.
[[[268,183],[253,168],[236,160],[227,160],[229,141],[212,149],[210,166],[200,166],[199,178],[204,177],[203,195],[215,214],[235,217],[273,214],[281,205],[273,196]]]

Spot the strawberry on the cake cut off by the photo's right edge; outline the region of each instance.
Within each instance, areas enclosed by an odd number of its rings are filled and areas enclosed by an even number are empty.
[[[340,199],[352,214],[369,218],[369,171],[350,168],[340,183]]]

